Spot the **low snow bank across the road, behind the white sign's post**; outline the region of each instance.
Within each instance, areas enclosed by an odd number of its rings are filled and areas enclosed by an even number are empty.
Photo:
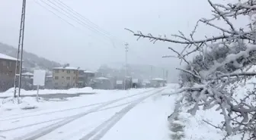
[[[40,89],[39,94],[40,95],[50,95],[50,94],[79,94],[79,93],[96,93],[94,89],[91,87],[85,87],[82,89],[66,89],[66,90],[60,90],[60,89]],[[0,93],[0,97],[11,97],[14,95],[14,88],[8,89],[6,92]],[[37,90],[30,90],[26,91],[24,89],[21,89],[21,95],[37,95]]]

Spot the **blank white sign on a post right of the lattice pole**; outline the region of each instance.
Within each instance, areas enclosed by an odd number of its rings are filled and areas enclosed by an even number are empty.
[[[46,70],[34,70],[34,86],[44,86]]]

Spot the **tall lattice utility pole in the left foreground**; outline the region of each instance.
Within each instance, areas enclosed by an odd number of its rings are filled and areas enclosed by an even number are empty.
[[[14,76],[14,98],[16,97],[17,86],[18,86],[18,97],[20,97],[21,95],[21,72],[22,72],[22,59],[23,59],[25,14],[26,14],[26,0],[23,0],[22,10],[21,10],[21,26],[20,26],[20,35],[19,35],[19,42],[18,42],[18,52],[17,52],[17,60],[16,60],[15,76]],[[21,60],[19,60],[20,53],[21,53]],[[18,83],[16,83],[17,76],[19,78]]]

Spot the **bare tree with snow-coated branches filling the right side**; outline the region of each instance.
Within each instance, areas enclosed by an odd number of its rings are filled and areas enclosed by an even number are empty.
[[[183,87],[183,89],[176,93],[183,93],[184,98],[187,95],[193,98],[193,108],[189,110],[191,114],[196,114],[197,110],[203,110],[217,107],[223,115],[223,126],[220,129],[225,129],[227,135],[233,133],[242,133],[242,139],[256,138],[256,89],[246,93],[245,97],[235,100],[234,90],[226,90],[232,82],[241,82],[243,79],[248,79],[255,76],[256,73],[248,72],[245,67],[254,65],[256,52],[256,0],[245,0],[245,2],[238,1],[228,5],[215,4],[208,0],[210,6],[213,8],[213,17],[211,19],[198,20],[194,30],[187,37],[179,31],[178,35],[172,35],[176,39],[169,39],[167,36],[153,36],[151,33],[144,34],[140,31],[137,33],[129,30],[134,36],[149,39],[151,42],[172,42],[184,45],[184,49],[179,52],[174,48],[169,47],[171,51],[177,54],[177,58],[187,64],[187,69],[181,70],[188,73],[194,79],[197,79],[197,84]],[[241,17],[250,17],[251,22],[248,23],[248,28],[235,28],[231,19]],[[229,29],[222,26],[217,26],[214,21],[219,20],[225,22]],[[207,26],[219,30],[222,34],[220,36],[206,36],[205,39],[194,39],[194,33],[197,31],[197,26],[200,23],[205,23]],[[243,46],[242,46],[243,45]],[[225,46],[226,48],[241,48],[234,53],[226,54],[226,56],[213,63],[206,64],[204,58],[207,49],[213,50]],[[187,56],[193,53],[203,54],[202,63],[206,64],[205,69],[197,69],[194,64],[187,60]],[[174,56],[170,56],[174,57]],[[168,58],[168,56],[165,56]],[[226,69],[227,64],[232,64],[235,70]],[[240,69],[240,71],[238,70]],[[182,100],[181,100],[182,101]]]

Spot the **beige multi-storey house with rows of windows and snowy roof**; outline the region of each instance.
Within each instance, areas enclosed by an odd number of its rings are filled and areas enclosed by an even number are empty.
[[[53,88],[54,89],[69,89],[82,85],[83,78],[79,67],[69,67],[69,64],[64,67],[53,68]],[[80,75],[80,76],[79,76]]]

